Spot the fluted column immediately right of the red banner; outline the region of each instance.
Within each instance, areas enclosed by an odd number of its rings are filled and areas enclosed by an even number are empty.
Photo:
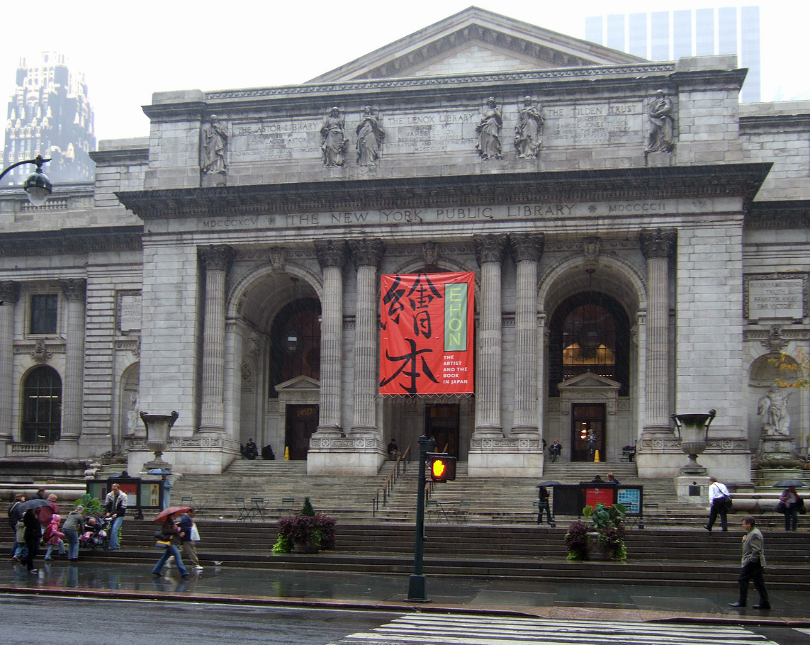
[[[476,235],[481,267],[478,369],[475,383],[475,438],[502,437],[501,427],[501,264],[505,236]]]

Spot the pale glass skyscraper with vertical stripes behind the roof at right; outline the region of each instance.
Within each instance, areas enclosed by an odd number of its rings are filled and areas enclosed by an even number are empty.
[[[740,100],[761,100],[758,6],[595,15],[585,19],[585,37],[653,61],[735,53],[748,67]]]

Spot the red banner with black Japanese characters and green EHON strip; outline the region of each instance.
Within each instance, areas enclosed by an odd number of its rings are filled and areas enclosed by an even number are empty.
[[[474,276],[381,276],[380,394],[474,391]]]

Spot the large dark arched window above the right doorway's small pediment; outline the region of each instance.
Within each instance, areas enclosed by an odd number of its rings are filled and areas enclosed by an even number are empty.
[[[627,314],[612,297],[590,292],[566,299],[552,316],[549,395],[559,396],[560,382],[586,372],[620,382],[619,395],[629,395],[629,338]]]

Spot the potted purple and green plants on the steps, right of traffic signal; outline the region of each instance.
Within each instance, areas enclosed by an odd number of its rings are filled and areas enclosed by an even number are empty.
[[[576,521],[565,533],[565,546],[569,560],[621,560],[627,559],[625,548],[625,515],[623,504],[586,506],[582,515],[589,523]]]

